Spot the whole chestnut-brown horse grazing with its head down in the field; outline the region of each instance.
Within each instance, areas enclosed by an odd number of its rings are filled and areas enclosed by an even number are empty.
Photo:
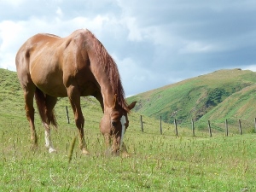
[[[88,154],[84,140],[84,116],[80,96],[95,96],[101,103],[100,130],[115,154],[129,125],[127,113],[136,102],[125,102],[118,68],[101,42],[88,30],[77,30],[67,38],[37,34],[23,44],[16,55],[16,69],[24,90],[26,117],[31,126],[32,146],[38,145],[34,125],[33,97],[45,128],[45,146],[55,149],[50,124],[56,126],[54,107],[57,97],[68,96],[79,131],[79,147]]]

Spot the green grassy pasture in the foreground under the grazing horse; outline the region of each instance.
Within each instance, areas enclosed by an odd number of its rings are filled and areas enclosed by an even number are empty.
[[[22,98],[22,97],[21,97]],[[20,98],[20,99],[21,99]],[[44,128],[38,113],[36,129],[39,145],[30,148],[30,128],[23,110],[24,103],[9,102],[0,110],[0,191],[255,191],[256,138],[254,134],[224,137],[222,132],[197,132],[191,137],[173,125],[145,119],[140,130],[137,113],[131,113],[125,145],[130,157],[105,153],[99,131],[102,117],[99,103],[82,98],[85,139],[90,155],[78,148],[68,163],[69,150],[77,130],[69,107],[71,124],[67,124],[67,99],[56,106],[59,127],[52,129],[57,153],[44,148]],[[90,103],[90,104],[89,104]],[[15,109],[15,110],[14,110]]]

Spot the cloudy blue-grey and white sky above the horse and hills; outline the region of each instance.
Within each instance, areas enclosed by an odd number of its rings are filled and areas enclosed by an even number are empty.
[[[0,67],[38,32],[88,28],[126,96],[223,68],[256,71],[255,0],[0,0]]]

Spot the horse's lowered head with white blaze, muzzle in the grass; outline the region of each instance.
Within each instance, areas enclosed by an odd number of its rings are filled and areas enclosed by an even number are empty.
[[[113,106],[104,110],[100,129],[105,137],[107,146],[112,140],[111,151],[113,154],[116,154],[121,149],[122,139],[129,126],[127,111],[134,108],[135,104],[136,102],[132,102],[127,106],[127,109],[121,108],[116,102],[116,96],[113,96]]]

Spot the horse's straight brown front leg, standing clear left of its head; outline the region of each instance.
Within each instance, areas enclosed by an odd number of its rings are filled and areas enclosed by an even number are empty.
[[[67,89],[67,94],[68,94],[71,106],[73,108],[75,123],[79,131],[79,148],[82,150],[83,154],[89,154],[87,150],[87,145],[84,139],[84,116],[80,106],[79,90],[73,85],[71,85]]]

